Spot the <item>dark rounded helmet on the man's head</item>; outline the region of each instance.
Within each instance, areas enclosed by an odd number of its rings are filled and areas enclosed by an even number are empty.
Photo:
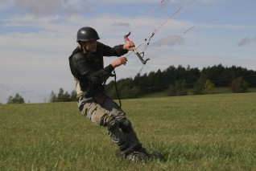
[[[97,35],[97,31],[95,31],[92,27],[85,26],[77,31],[77,39],[76,42],[86,42],[92,39],[100,39],[99,35]]]

